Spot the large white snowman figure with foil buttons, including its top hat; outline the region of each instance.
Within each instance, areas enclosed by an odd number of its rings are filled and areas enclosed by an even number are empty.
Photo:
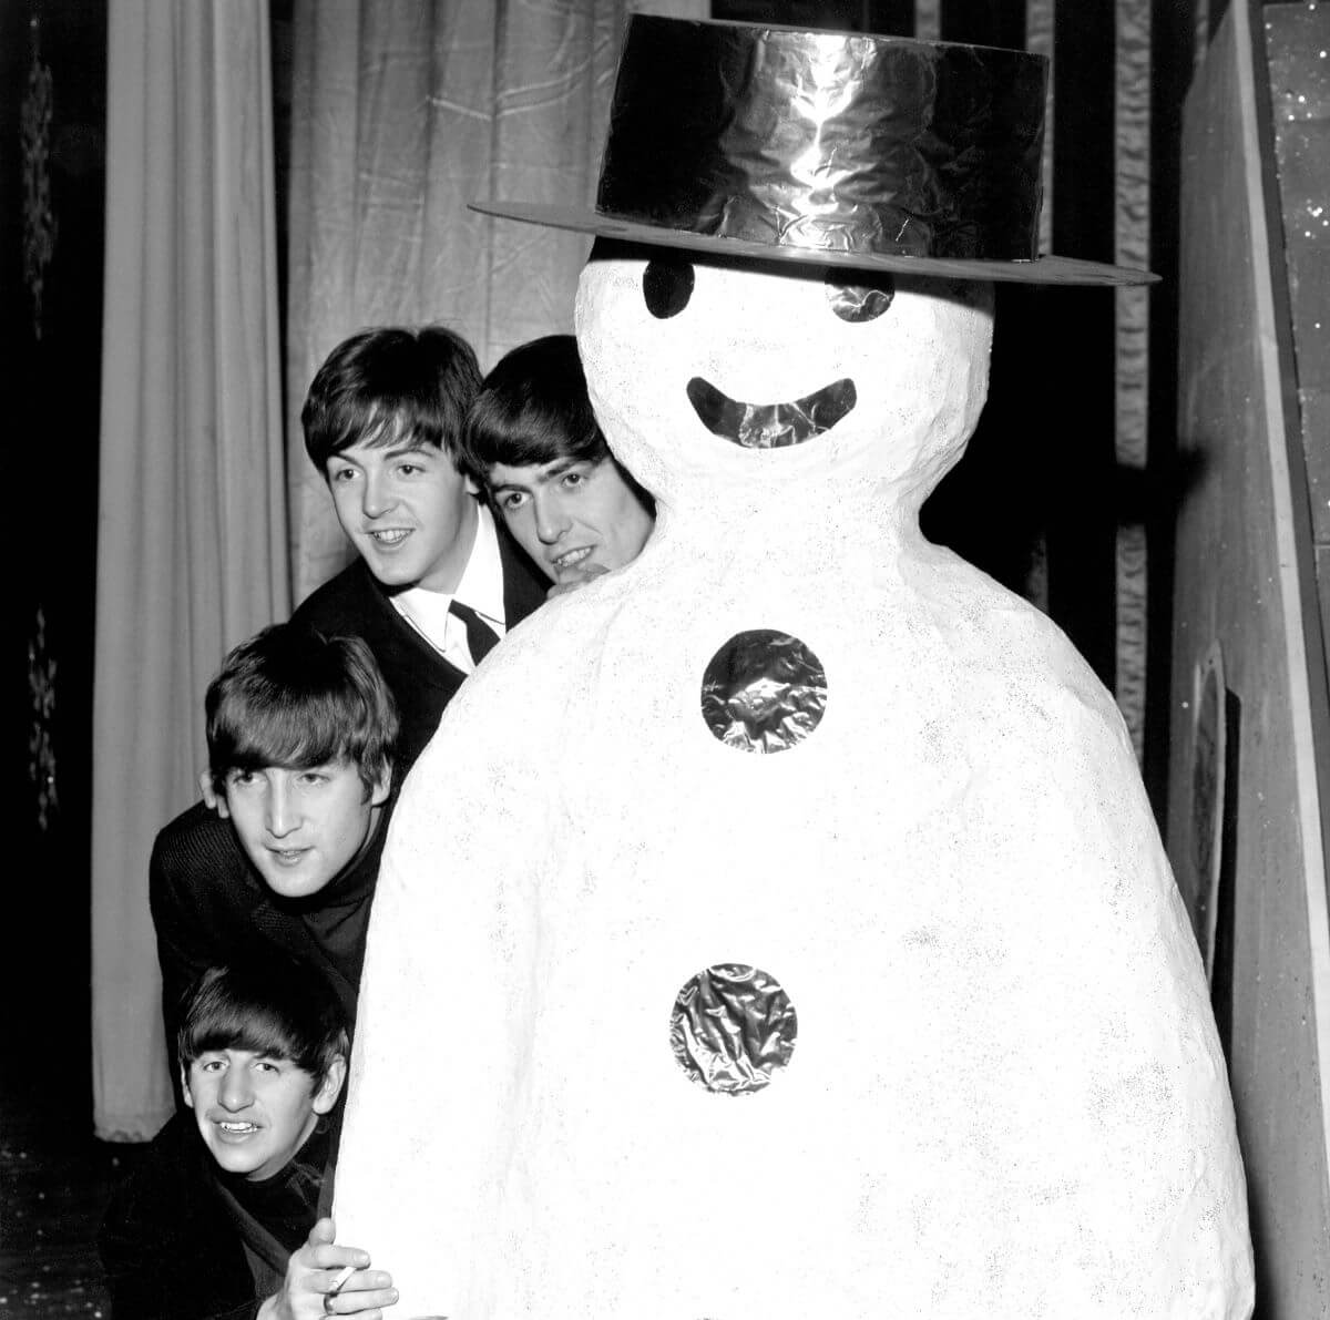
[[[1225,1063],[1112,700],[918,512],[1044,63],[637,16],[577,341],[642,555],[402,790],[335,1218],[448,1320],[1241,1320]],[[334,1304],[334,1309],[339,1308]]]

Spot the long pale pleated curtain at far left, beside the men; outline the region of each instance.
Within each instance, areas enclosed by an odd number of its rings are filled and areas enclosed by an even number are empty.
[[[93,1107],[169,1115],[148,911],[223,653],[289,608],[266,0],[112,0],[97,636]]]

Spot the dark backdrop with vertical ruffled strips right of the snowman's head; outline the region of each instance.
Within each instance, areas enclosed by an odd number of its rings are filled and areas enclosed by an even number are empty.
[[[834,21],[830,3],[814,8]],[[725,16],[758,9],[801,21],[793,0],[717,0]],[[931,528],[1068,632],[1112,688],[1160,814],[1176,494],[1172,198],[1206,9],[1206,0],[863,8],[878,31],[1047,56],[1041,250],[1162,275],[1148,289],[999,290],[988,409],[939,488]],[[805,12],[802,21],[815,20]],[[1004,551],[1021,544],[1027,556]]]

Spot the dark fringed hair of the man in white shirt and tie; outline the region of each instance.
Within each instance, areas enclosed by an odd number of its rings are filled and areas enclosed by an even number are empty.
[[[480,366],[462,335],[444,326],[386,326],[343,339],[310,383],[301,410],[305,448],[325,472],[352,444],[446,450],[480,389]]]

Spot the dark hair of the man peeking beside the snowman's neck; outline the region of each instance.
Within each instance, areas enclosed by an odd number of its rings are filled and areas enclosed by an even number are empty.
[[[496,463],[601,463],[609,456],[587,397],[577,341],[552,334],[513,349],[485,377],[467,414],[459,460],[484,483]]]

